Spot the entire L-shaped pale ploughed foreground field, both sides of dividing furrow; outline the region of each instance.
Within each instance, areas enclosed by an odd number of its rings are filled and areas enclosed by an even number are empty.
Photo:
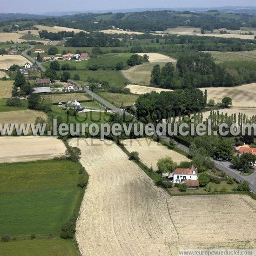
[[[256,201],[249,196],[171,197],[113,141],[68,143],[81,148],[89,174],[76,225],[83,256],[177,255],[178,248],[192,245],[233,248],[246,242],[248,248],[256,239]]]

